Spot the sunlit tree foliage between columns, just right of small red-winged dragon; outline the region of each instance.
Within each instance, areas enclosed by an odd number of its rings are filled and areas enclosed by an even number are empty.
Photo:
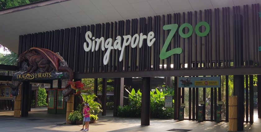
[[[113,79],[108,79],[107,82],[112,82]],[[82,83],[85,84],[85,88],[89,88],[85,93],[93,94],[94,93],[94,79],[93,78],[85,78],[82,79]],[[102,94],[102,78],[98,78],[98,92],[97,94]],[[107,92],[113,91],[113,86],[107,85]]]

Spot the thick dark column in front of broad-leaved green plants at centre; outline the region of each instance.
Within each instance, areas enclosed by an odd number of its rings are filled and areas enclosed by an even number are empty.
[[[142,78],[142,95],[141,95],[141,125],[149,125],[150,120],[150,85],[151,78]]]

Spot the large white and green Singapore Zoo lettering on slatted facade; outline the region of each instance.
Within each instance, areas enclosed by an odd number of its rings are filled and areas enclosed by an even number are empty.
[[[200,26],[205,26],[205,31],[204,32],[200,32],[199,31],[199,27]],[[189,29],[189,32],[187,34],[183,33],[183,29],[187,27]],[[167,36],[167,39],[163,45],[163,48],[159,54],[159,58],[160,59],[166,59],[167,57],[170,57],[173,54],[181,54],[182,53],[182,49],[181,48],[173,48],[170,51],[167,51],[168,45],[171,42],[174,34],[176,33],[178,29],[178,25],[177,24],[170,24],[170,25],[164,25],[163,26],[163,30],[170,30],[170,33]],[[201,21],[199,22],[196,27],[195,27],[195,33],[200,36],[200,37],[204,37],[206,36],[210,31],[210,26],[207,22],[205,21]],[[189,23],[184,23],[180,26],[179,30],[178,30],[180,36],[182,38],[188,38],[192,35],[193,33],[193,27],[192,25],[190,25]],[[103,64],[107,65],[109,58],[110,58],[110,54],[112,49],[118,49],[121,51],[120,57],[119,57],[119,61],[122,61],[123,59],[123,54],[125,52],[125,47],[131,44],[131,48],[135,48],[138,46],[139,44],[139,48],[142,47],[143,45],[143,39],[147,39],[147,45],[150,47],[152,46],[152,44],[155,42],[155,38],[154,38],[154,32],[149,32],[148,35],[143,35],[143,33],[139,34],[135,34],[133,37],[131,35],[125,35],[122,36],[123,37],[123,44],[121,47],[121,36],[117,36],[116,40],[113,42],[112,45],[112,38],[107,39],[106,41],[104,40],[103,37],[101,37],[100,39],[96,38],[92,35],[92,33],[90,31],[87,31],[85,34],[85,39],[88,43],[85,42],[83,44],[83,48],[86,52],[89,52],[90,50],[92,52],[98,51],[100,44],[101,44],[101,48],[104,51],[105,48],[107,49],[104,57],[103,57]]]

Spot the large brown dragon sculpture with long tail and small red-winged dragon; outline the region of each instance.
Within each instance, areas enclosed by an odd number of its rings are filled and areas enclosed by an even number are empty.
[[[68,72],[69,73],[69,81],[63,91],[63,96],[67,97],[70,94],[74,93],[76,90],[76,95],[79,95],[81,91],[84,91],[84,84],[81,82],[73,82],[73,71],[71,68],[67,66],[61,66],[60,63],[64,61],[62,57],[51,50],[45,48],[30,48],[25,52],[21,53],[18,57],[17,61],[21,63],[22,61],[29,62],[29,67],[25,73],[34,73],[37,69],[44,69],[43,72],[51,72],[53,70],[57,72]],[[70,87],[71,86],[71,87]],[[17,86],[14,88],[18,88]],[[17,94],[16,94],[17,95]],[[13,96],[16,96],[13,95]]]

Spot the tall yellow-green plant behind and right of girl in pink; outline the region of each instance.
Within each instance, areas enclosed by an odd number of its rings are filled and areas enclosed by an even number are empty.
[[[90,114],[103,112],[101,109],[102,105],[96,101],[94,101],[97,96],[95,94],[81,94],[84,102],[89,103]]]

